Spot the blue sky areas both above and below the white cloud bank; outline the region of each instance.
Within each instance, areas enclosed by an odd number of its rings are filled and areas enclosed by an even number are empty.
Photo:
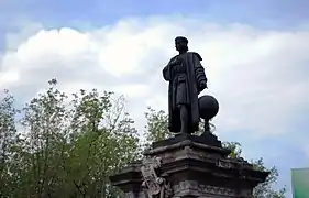
[[[130,16],[143,19],[159,15],[164,19],[170,15],[181,15],[184,19],[195,18],[223,26],[241,23],[268,31],[307,31],[309,24],[309,1],[307,0],[165,1],[93,0],[89,3],[90,1],[86,0],[0,0],[0,50],[5,52],[5,35],[18,33],[32,23],[37,23],[48,30],[66,26],[90,31],[113,25],[119,20]],[[287,74],[294,72],[295,79],[289,79],[287,76],[286,80],[293,81],[296,80],[296,77],[302,80],[308,79],[307,61],[294,65],[293,70],[287,70]],[[234,131],[233,133],[239,134],[236,136],[222,135],[225,140],[241,141],[247,156],[263,156],[267,165],[276,165],[282,175],[279,186],[290,185],[289,169],[291,167],[301,167],[308,163],[308,160],[304,157],[305,152],[299,148],[299,144],[306,144],[305,140],[308,138],[308,102],[305,102],[301,108],[293,109],[289,113],[291,113],[289,119],[282,123],[287,133],[278,136],[267,138],[265,135],[256,141],[242,141],[251,135],[250,131]],[[261,124],[264,124],[263,118],[261,120]]]

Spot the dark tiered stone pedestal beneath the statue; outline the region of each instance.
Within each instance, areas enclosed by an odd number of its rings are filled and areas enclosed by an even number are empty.
[[[151,167],[145,162],[130,164],[110,179],[130,198],[250,198],[253,188],[265,182],[269,173],[254,169],[243,158],[229,158],[229,153],[210,133],[177,135],[153,143],[152,148],[144,153],[145,158],[159,160],[159,164],[152,167],[156,174],[154,177],[161,179],[145,178],[141,168]],[[158,194],[152,187],[156,183],[162,187]]]

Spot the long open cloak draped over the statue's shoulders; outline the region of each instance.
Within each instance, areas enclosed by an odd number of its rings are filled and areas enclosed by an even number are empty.
[[[203,81],[207,82],[205,69],[200,64],[202,59],[198,53],[187,52],[185,54],[173,57],[168,65],[163,69],[163,77],[169,82],[168,85],[168,129],[170,132],[179,132],[181,128],[180,112],[177,108],[177,89],[179,86],[179,73],[173,69],[170,63],[178,58],[181,63],[183,69],[185,69],[185,97],[186,106],[189,112],[189,131],[188,133],[195,132],[199,127],[199,107],[198,107],[198,95],[202,91],[199,85]],[[176,66],[177,67],[177,66]],[[184,76],[181,76],[183,80]],[[184,86],[184,85],[183,85]],[[184,94],[181,94],[184,95]],[[183,103],[184,105],[184,103]]]

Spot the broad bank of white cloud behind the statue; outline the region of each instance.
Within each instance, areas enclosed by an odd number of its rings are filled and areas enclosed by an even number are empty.
[[[0,88],[31,97],[57,77],[65,90],[115,90],[128,96],[130,112],[143,129],[146,106],[167,107],[162,68],[176,53],[177,35],[188,36],[190,50],[203,57],[209,92],[221,106],[219,133],[287,133],[295,109],[308,105],[309,73],[304,65],[309,61],[309,32],[181,18],[128,19],[91,32],[41,30],[5,52]]]

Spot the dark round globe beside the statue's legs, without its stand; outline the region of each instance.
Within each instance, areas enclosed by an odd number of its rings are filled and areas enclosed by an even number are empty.
[[[216,117],[218,111],[219,111],[219,102],[214,97],[209,96],[209,95],[199,97],[200,118],[208,121],[208,120],[212,119],[213,117]]]

